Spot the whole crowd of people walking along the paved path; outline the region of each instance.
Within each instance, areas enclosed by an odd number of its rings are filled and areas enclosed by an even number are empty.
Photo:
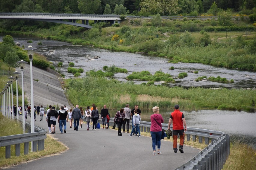
[[[134,108],[131,110],[129,104],[126,104],[125,108],[121,108],[119,111],[116,112],[114,117],[114,123],[118,127],[118,136],[122,136],[122,125],[123,125],[123,133],[125,131],[129,133],[129,136],[132,137],[133,135],[141,137],[140,134],[140,121],[141,121],[141,110],[139,109],[138,105],[135,105]],[[16,105],[14,105],[14,116],[17,115]],[[168,129],[170,129],[170,125],[173,125],[173,151],[177,153],[178,146],[177,146],[177,139],[178,134],[180,136],[179,142],[179,151],[183,153],[183,144],[184,144],[184,132],[187,131],[187,125],[184,118],[184,114],[179,110],[179,105],[174,106],[174,111],[170,114]],[[163,117],[159,114],[159,107],[155,106],[152,108],[153,114],[151,115],[151,127],[150,127],[150,134],[152,138],[152,148],[153,148],[153,155],[161,154],[160,147],[161,147],[161,135],[162,135],[162,124]],[[24,108],[25,120],[27,119],[27,115],[31,115],[31,107],[26,106]],[[43,121],[44,117],[44,107],[38,105],[37,107],[34,106],[34,114],[40,114],[40,121]],[[18,114],[22,114],[22,107],[18,106]],[[102,118],[102,126],[103,129],[109,128],[109,120],[110,114],[108,112],[107,106],[104,105],[101,111],[98,111],[98,108],[95,104],[92,104],[92,107],[87,106],[86,109],[83,110],[83,107],[78,105],[75,106],[74,109],[70,108],[68,112],[68,108],[66,105],[61,106],[59,110],[56,110],[54,106],[49,106],[49,109],[46,112],[46,121],[49,128],[50,134],[56,133],[56,121],[59,122],[59,130],[62,134],[63,131],[66,133],[67,122],[69,121],[70,128],[72,125],[75,131],[78,131],[78,128],[82,128],[83,121],[86,121],[86,128],[87,131],[90,129],[90,122],[92,122],[92,130],[96,130],[97,122],[99,121],[99,116]],[[132,128],[130,130],[130,120],[132,120]],[[184,128],[185,126],[185,128]],[[157,153],[156,153],[156,146],[157,146]]]

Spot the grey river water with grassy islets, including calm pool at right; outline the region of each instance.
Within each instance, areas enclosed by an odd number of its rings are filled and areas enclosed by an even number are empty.
[[[2,41],[4,35],[0,34],[0,41]],[[83,68],[85,75],[86,71],[92,69],[103,70],[103,66],[116,65],[119,68],[126,68],[128,73],[115,74],[116,79],[120,81],[127,81],[125,78],[133,71],[149,71],[154,74],[155,71],[160,69],[164,73],[169,73],[172,76],[178,76],[181,72],[198,71],[198,74],[188,73],[188,76],[184,79],[175,80],[175,83],[170,83],[172,86],[182,86],[184,88],[189,87],[205,87],[205,88],[253,88],[256,87],[256,73],[252,71],[240,71],[236,69],[218,68],[210,65],[203,64],[190,64],[190,63],[168,63],[168,59],[155,56],[142,55],[138,53],[127,52],[114,52],[110,50],[104,50],[99,48],[93,48],[91,46],[75,46],[66,42],[58,42],[53,40],[38,39],[35,37],[16,36],[12,35],[15,42],[19,42],[20,45],[28,47],[38,48],[37,53],[43,54],[47,59],[53,62],[56,69],[58,69],[58,62],[63,63],[63,67],[59,68],[60,72],[65,74],[65,78],[74,77],[73,74],[67,73],[69,62],[74,62],[75,67]],[[27,43],[28,40],[32,40],[33,43]],[[42,42],[43,45],[37,45],[38,42]],[[99,59],[88,62],[85,56],[89,55],[90,58],[94,56],[100,56]],[[169,67],[174,66],[174,70],[169,70]],[[247,75],[247,76],[246,76]],[[210,81],[193,81],[199,76],[221,76],[228,80],[233,79],[234,83],[218,83]],[[135,81],[135,83],[141,83],[142,81]],[[116,111],[111,111],[111,117],[114,117]],[[161,110],[160,113],[164,118],[164,123],[168,123],[171,111]],[[143,110],[142,120],[150,121],[150,115],[152,111]],[[247,113],[243,111],[220,111],[220,110],[200,110],[200,111],[184,111],[184,116],[188,127],[203,128],[216,131],[223,131],[226,134],[230,134],[232,137],[241,140],[242,142],[252,144],[256,148],[256,114]]]

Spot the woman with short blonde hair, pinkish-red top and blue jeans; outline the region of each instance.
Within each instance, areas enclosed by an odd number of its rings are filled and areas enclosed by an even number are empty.
[[[161,154],[160,146],[161,146],[161,136],[162,136],[162,124],[163,117],[159,114],[159,107],[155,106],[152,108],[154,114],[150,116],[151,119],[151,127],[150,134],[152,138],[152,147],[153,147],[153,155],[156,155],[156,143],[157,143],[157,154]]]

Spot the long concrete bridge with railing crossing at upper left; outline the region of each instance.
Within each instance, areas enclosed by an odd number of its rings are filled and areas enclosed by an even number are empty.
[[[103,14],[73,14],[73,13],[16,13],[16,12],[1,12],[0,19],[24,19],[33,21],[55,22],[61,24],[75,25],[78,27],[92,28],[89,25],[89,20],[96,22],[110,22],[114,24],[117,20],[121,22],[119,15],[103,15]],[[81,23],[77,23],[81,20]]]

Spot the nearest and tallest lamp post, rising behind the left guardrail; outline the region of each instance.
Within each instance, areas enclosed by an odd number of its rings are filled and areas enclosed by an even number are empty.
[[[23,50],[28,51],[28,57],[30,61],[30,89],[31,89],[31,110],[30,114],[33,112],[33,116],[31,116],[31,133],[35,132],[35,122],[34,122],[34,96],[33,96],[33,72],[32,72],[32,61],[34,57],[34,51],[37,50],[37,48],[33,48],[31,45],[29,45],[28,48],[24,48]],[[31,142],[31,151],[36,151],[36,148],[33,148],[33,142]]]

